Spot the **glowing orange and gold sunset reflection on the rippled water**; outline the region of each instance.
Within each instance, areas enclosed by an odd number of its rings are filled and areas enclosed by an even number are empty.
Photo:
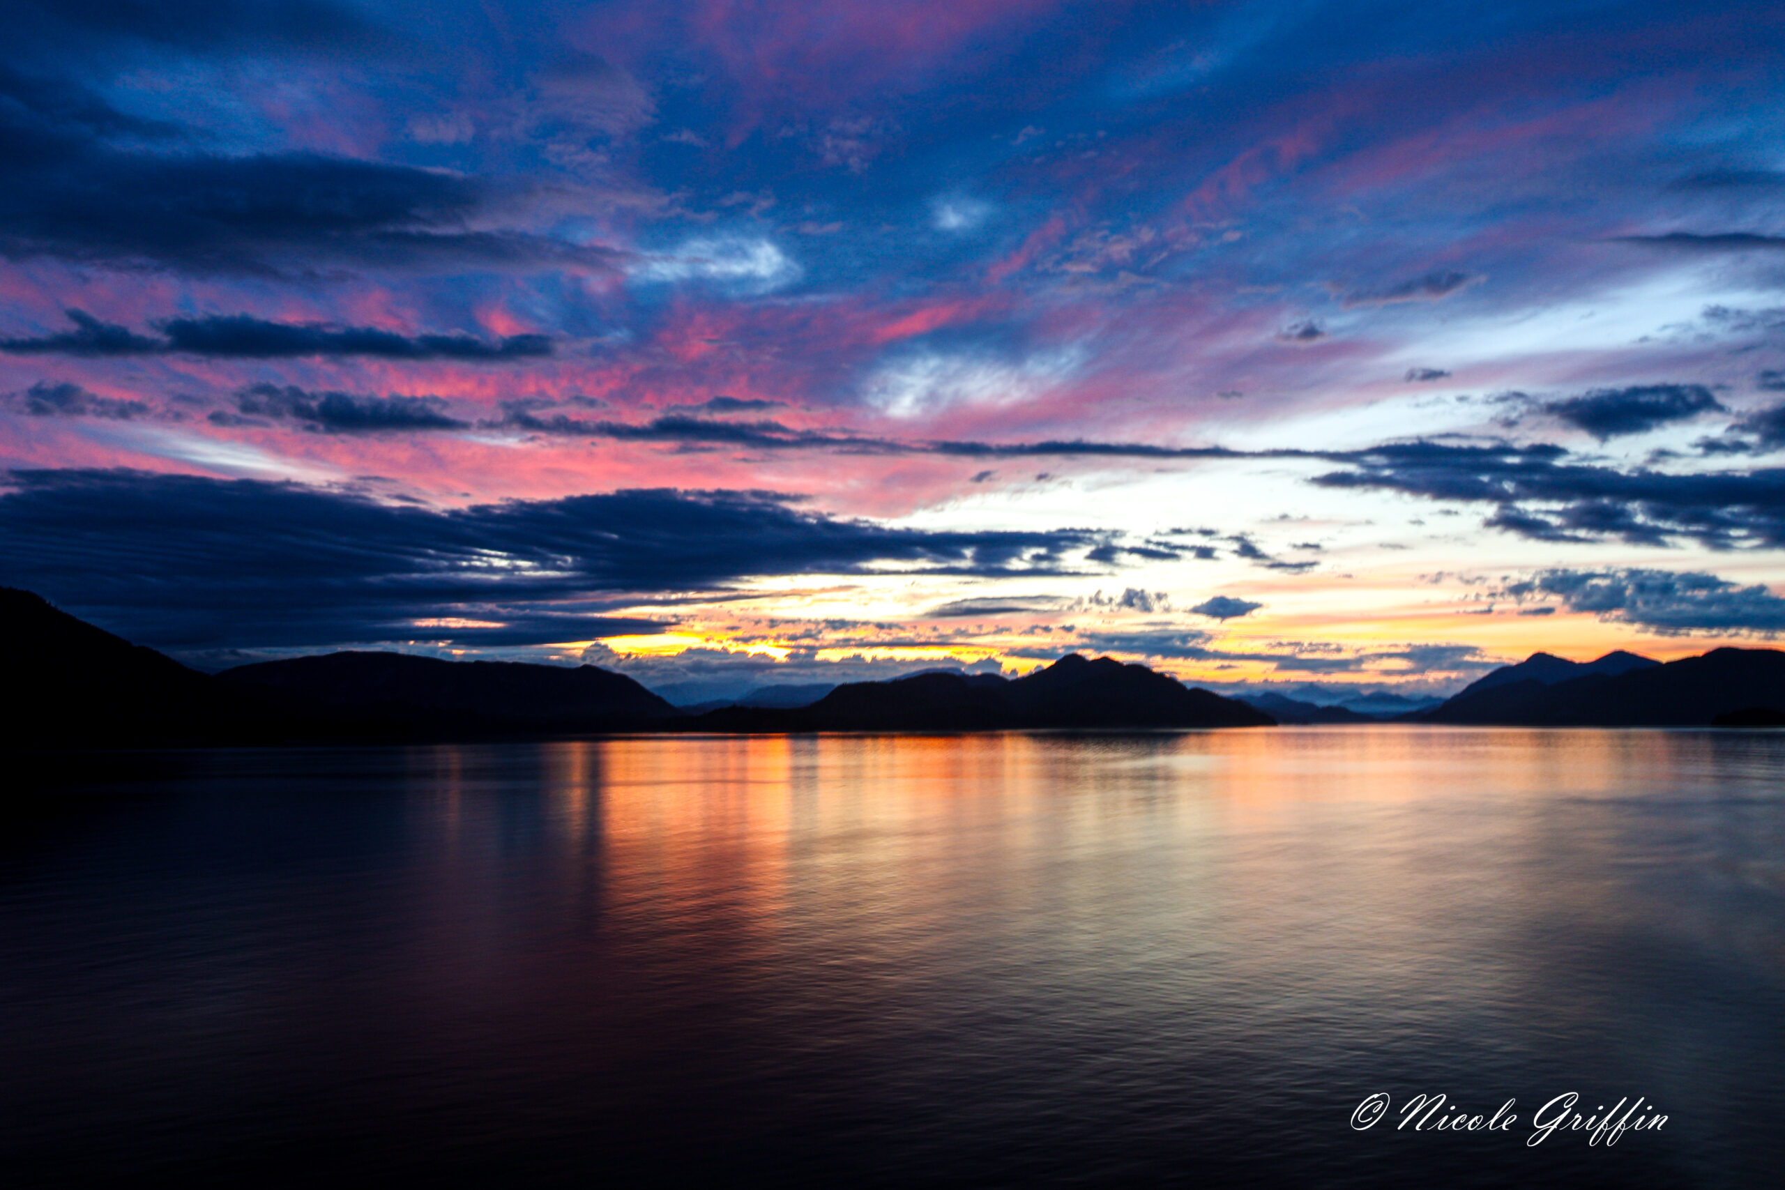
[[[1617,801],[1714,767],[1706,739],[1378,726],[552,748],[562,822],[593,822],[607,903],[719,913],[744,949],[846,935],[857,956],[916,962],[980,915],[1094,947],[1128,913],[1160,953],[1246,938],[1242,965],[1344,987],[1383,974],[1355,969],[1360,938],[1417,965],[1517,953],[1485,938],[1558,901],[1615,913],[1594,872],[1624,842]],[[1332,953],[1351,971],[1317,962],[1323,938],[1344,938]]]

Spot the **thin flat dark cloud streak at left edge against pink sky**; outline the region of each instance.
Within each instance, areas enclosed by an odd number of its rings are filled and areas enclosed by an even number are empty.
[[[236,359],[302,355],[366,355],[373,359],[489,362],[552,355],[546,335],[509,335],[496,343],[471,335],[400,335],[375,326],[273,323],[248,314],[175,318],[161,323],[162,339],[102,323],[86,310],[68,310],[73,330],[37,339],[0,339],[0,351],[55,355],[154,355],[178,351]]]

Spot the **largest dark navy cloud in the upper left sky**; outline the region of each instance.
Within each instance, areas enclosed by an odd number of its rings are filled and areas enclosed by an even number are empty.
[[[603,248],[477,227],[500,194],[462,175],[320,153],[145,152],[161,127],[129,121],[73,82],[0,73],[0,255],[236,273],[614,266]]]

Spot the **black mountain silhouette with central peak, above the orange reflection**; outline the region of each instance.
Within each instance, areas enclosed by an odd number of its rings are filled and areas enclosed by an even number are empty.
[[[810,707],[725,707],[687,731],[994,731],[1009,728],[1246,728],[1271,715],[1187,689],[1146,665],[1069,653],[1026,678],[923,673],[851,682]]]

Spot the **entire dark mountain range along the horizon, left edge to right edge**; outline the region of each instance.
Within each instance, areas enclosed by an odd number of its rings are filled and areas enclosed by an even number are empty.
[[[1025,678],[921,673],[892,682],[780,687],[687,714],[594,665],[448,662],[328,653],[203,674],[0,589],[14,648],[0,715],[11,748],[130,748],[318,740],[452,740],[609,731],[989,731],[1239,728],[1369,723],[1276,692],[1246,701],[1146,665],[1076,653]],[[810,696],[805,705],[791,705]],[[778,705],[776,705],[778,703]],[[1403,723],[1515,726],[1785,726],[1785,653],[1714,649],[1660,664],[1633,653],[1569,662],[1535,653]]]

